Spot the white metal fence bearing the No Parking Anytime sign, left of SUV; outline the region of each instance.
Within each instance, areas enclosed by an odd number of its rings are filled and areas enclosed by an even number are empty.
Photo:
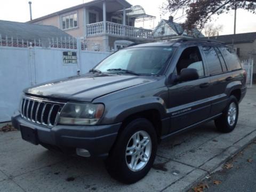
[[[110,54],[86,51],[77,39],[50,39],[47,47],[42,41],[2,38],[0,42],[0,122],[10,121],[26,87],[74,76],[77,71],[86,73]],[[64,52],[75,53],[75,62],[65,63]]]

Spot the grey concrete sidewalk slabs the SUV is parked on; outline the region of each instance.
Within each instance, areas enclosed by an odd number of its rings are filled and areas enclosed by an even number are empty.
[[[186,191],[256,138],[256,87],[241,102],[236,129],[222,134],[210,122],[158,146],[154,168],[123,185],[103,162],[52,153],[0,132],[0,191]]]

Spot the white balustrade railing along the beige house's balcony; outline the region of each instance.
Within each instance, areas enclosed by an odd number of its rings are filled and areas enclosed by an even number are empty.
[[[87,25],[87,36],[97,36],[104,34],[103,22],[97,22]],[[106,34],[130,37],[138,39],[153,39],[152,30],[131,26],[123,26],[113,22],[106,22]]]

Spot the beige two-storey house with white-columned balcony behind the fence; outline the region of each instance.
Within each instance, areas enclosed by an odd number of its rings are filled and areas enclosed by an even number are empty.
[[[134,27],[135,20],[141,18],[155,17],[125,0],[94,0],[27,23],[58,27],[74,37],[86,39],[88,50],[98,46],[99,50],[108,51],[122,48],[126,45],[124,41],[128,44],[152,42],[152,30]]]

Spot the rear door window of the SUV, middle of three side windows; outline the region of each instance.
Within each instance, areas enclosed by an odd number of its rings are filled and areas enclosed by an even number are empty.
[[[220,60],[218,58],[217,52],[212,46],[203,46],[203,51],[205,54],[205,59],[207,61],[209,74],[217,74],[222,72],[220,65]]]

